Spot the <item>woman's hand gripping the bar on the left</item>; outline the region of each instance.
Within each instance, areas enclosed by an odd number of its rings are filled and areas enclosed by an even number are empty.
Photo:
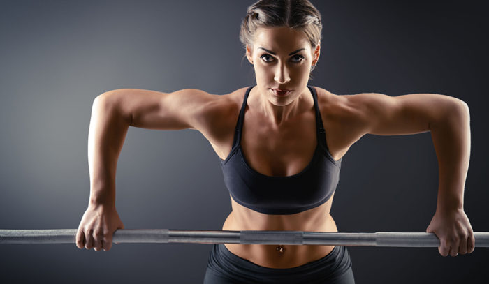
[[[109,251],[112,247],[112,234],[117,229],[124,229],[124,224],[114,206],[90,204],[78,225],[76,246],[85,246],[88,250],[94,248],[95,251],[101,251],[103,248],[104,251]]]

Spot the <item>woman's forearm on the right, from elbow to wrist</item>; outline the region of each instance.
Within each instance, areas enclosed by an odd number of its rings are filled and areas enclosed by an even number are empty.
[[[469,109],[461,101],[454,103],[443,118],[430,121],[439,166],[437,210],[463,209],[470,156],[469,124]]]

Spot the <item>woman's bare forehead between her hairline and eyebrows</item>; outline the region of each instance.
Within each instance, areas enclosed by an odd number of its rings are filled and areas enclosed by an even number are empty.
[[[275,52],[291,52],[299,48],[309,50],[309,40],[301,31],[289,27],[266,27],[256,29],[254,48],[265,47]]]

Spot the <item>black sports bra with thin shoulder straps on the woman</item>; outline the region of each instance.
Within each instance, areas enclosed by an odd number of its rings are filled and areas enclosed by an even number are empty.
[[[340,180],[342,159],[336,161],[328,151],[326,132],[317,103],[316,90],[307,86],[316,109],[317,146],[309,165],[298,174],[272,177],[251,169],[243,156],[240,142],[245,107],[251,86],[247,89],[236,123],[233,147],[221,160],[224,183],[235,202],[263,214],[295,214],[328,201]]]

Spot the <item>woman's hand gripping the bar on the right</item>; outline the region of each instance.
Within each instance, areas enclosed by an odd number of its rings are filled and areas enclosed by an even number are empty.
[[[442,256],[465,255],[474,251],[474,232],[463,209],[437,209],[426,232],[437,235],[440,240],[438,251]]]

